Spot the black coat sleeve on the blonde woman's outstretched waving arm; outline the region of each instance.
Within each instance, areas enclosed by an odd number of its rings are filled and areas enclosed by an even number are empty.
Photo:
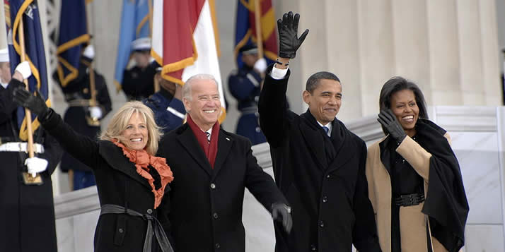
[[[98,167],[100,154],[97,142],[87,136],[76,133],[71,126],[62,120],[62,116],[59,116],[52,109],[49,118],[40,121],[40,123],[72,157],[91,167],[91,169]]]

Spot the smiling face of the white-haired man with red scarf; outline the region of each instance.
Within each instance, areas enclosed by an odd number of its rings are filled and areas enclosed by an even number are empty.
[[[191,83],[191,99],[182,98],[187,114],[203,131],[209,130],[221,114],[219,90],[214,80],[195,79]]]

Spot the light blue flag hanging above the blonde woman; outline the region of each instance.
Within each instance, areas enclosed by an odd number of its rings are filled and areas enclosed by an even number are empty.
[[[149,28],[149,6],[152,0],[124,0],[121,16],[120,42],[117,46],[116,70],[114,83],[121,90],[124,68],[127,67],[132,52],[130,44],[141,37],[151,37]]]

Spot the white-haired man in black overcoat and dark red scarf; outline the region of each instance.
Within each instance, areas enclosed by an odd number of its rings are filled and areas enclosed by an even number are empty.
[[[290,209],[271,176],[257,164],[247,138],[219,127],[218,85],[209,75],[193,76],[182,87],[187,123],[159,145],[174,180],[163,228],[175,251],[245,251],[244,190],[291,229]],[[280,232],[280,231],[279,231]]]

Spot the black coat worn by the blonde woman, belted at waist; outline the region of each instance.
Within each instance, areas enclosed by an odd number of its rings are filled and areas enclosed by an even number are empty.
[[[121,148],[108,140],[97,142],[76,133],[54,111],[49,119],[42,121],[42,126],[57,138],[66,152],[93,169],[100,205],[121,205],[141,214],[158,217],[158,212],[163,210],[164,200],[154,209],[151,186],[137,174],[134,163],[124,156]],[[166,222],[163,218],[158,217],[158,220]],[[142,251],[146,229],[147,222],[142,217],[100,215],[95,229],[95,251]],[[156,242],[153,242],[153,246],[158,248]]]

